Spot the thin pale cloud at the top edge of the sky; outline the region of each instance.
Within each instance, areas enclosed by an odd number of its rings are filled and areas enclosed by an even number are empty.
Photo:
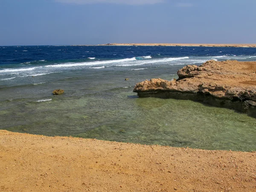
[[[61,3],[94,4],[94,3],[115,3],[128,5],[145,5],[162,3],[164,0],[55,0]]]

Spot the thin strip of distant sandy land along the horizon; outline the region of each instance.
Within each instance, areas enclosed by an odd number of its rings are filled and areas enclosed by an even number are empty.
[[[112,46],[256,47],[256,44],[99,44]]]

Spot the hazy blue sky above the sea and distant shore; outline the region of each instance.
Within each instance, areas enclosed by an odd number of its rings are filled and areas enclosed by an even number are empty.
[[[0,0],[0,46],[256,44],[256,0]]]

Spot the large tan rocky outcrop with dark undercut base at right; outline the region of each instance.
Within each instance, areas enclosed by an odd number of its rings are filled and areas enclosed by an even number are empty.
[[[191,99],[256,116],[256,62],[207,61],[178,70],[179,79],[137,83],[140,97]]]

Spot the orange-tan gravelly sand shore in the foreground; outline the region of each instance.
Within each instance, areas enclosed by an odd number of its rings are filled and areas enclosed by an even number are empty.
[[[255,192],[256,153],[0,130],[0,191]]]

